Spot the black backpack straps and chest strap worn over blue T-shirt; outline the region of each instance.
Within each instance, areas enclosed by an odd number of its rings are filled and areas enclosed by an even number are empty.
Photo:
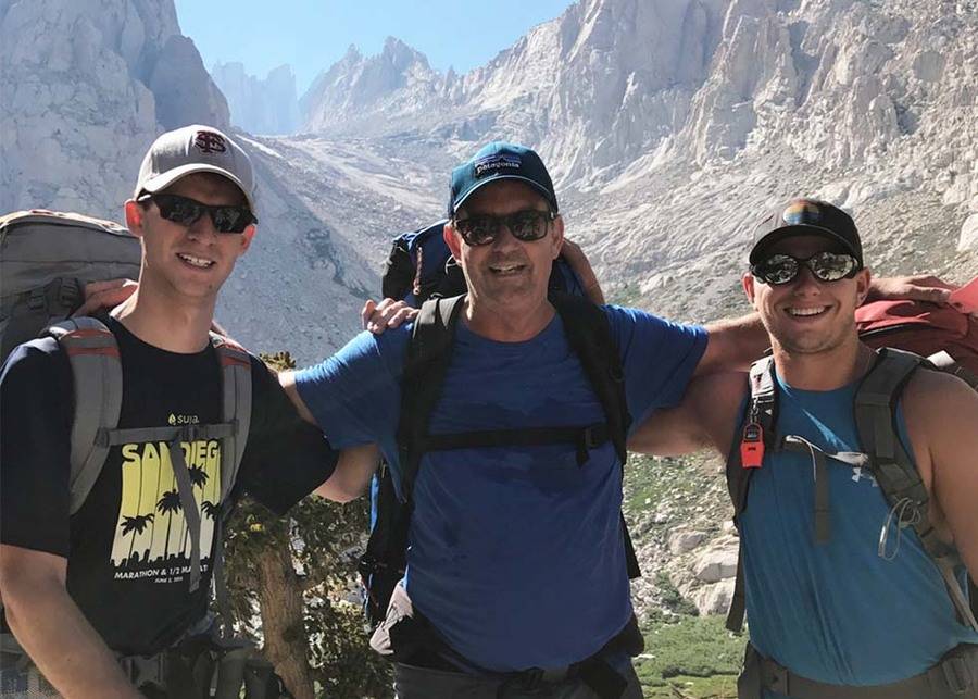
[[[604,312],[579,296],[553,294],[554,304],[567,341],[581,364],[602,407],[605,421],[577,427],[540,427],[430,435],[428,423],[444,383],[452,344],[464,296],[431,299],[422,305],[404,364],[401,391],[401,422],[398,451],[402,467],[401,497],[398,497],[390,466],[381,464],[374,478],[374,523],[366,552],[360,559],[365,590],[364,609],[372,625],[384,621],[394,585],[406,567],[408,529],[413,508],[412,490],[425,452],[444,449],[500,445],[530,446],[574,444],[578,464],[588,451],[611,441],[622,462],[627,459],[626,437],[631,416],[625,399],[625,383],[618,348]],[[640,571],[628,529],[622,516],[628,576]]]

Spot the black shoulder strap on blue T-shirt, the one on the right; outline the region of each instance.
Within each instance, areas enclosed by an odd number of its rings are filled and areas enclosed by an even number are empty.
[[[628,460],[628,429],[631,414],[625,394],[625,371],[618,345],[604,311],[589,300],[569,294],[550,295],[567,335],[570,349],[584,366],[607,420],[609,437],[624,470]]]

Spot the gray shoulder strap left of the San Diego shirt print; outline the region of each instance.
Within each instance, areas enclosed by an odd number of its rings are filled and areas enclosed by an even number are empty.
[[[75,317],[50,326],[72,366],[75,414],[72,421],[71,505],[78,511],[109,454],[109,432],[118,426],[122,364],[115,336],[101,321]]]

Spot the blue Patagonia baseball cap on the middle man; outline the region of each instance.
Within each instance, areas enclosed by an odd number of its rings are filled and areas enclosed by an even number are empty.
[[[543,196],[554,213],[557,212],[553,182],[540,157],[525,146],[493,141],[452,171],[449,217],[453,217],[479,187],[501,179],[515,179],[529,185]]]

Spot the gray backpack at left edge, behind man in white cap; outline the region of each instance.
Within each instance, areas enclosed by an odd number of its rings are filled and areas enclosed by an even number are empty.
[[[111,221],[40,209],[0,217],[0,361],[75,311],[86,283],[137,278],[140,257]]]

